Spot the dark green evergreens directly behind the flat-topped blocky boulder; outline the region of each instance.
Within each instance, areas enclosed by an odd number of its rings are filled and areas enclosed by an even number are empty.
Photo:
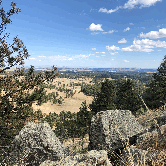
[[[100,91],[89,107],[94,114],[111,109],[126,109],[136,115],[137,110],[145,110],[140,98],[144,90],[144,85],[139,81],[107,79],[102,82]]]

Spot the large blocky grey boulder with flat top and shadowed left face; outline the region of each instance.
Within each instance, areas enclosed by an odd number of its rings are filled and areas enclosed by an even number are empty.
[[[88,150],[113,152],[123,149],[126,141],[131,145],[136,143],[137,138],[133,136],[143,131],[143,126],[129,110],[98,112],[91,119]]]

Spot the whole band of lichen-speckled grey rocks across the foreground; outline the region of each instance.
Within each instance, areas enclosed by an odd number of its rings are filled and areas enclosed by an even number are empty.
[[[155,118],[156,125],[145,129],[128,110],[107,110],[92,117],[89,130],[88,152],[75,154],[65,148],[47,122],[28,123],[12,143],[9,165],[35,166],[112,166],[145,165],[156,160],[157,153],[145,146],[150,138],[159,136],[159,142],[166,144],[165,115]],[[125,142],[129,144],[126,146]],[[135,144],[142,146],[137,146]],[[119,153],[120,152],[120,153]],[[111,157],[118,154],[121,159]]]

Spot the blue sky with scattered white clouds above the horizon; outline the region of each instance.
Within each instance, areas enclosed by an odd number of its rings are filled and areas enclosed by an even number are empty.
[[[165,0],[14,2],[21,12],[5,32],[28,49],[24,66],[158,68],[166,55]]]

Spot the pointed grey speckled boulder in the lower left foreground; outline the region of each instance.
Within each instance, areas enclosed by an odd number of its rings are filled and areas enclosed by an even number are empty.
[[[69,154],[47,122],[26,124],[12,142],[10,164],[39,165],[45,160],[59,160]]]

